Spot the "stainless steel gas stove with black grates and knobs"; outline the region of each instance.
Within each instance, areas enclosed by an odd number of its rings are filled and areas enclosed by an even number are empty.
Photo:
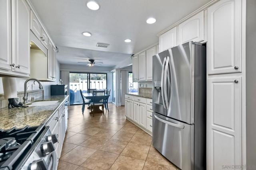
[[[57,142],[44,125],[0,130],[0,170],[56,170]]]

